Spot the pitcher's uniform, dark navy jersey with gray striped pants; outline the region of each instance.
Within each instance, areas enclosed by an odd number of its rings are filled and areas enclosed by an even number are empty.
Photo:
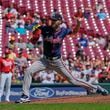
[[[29,96],[29,88],[34,73],[50,68],[64,75],[72,83],[84,86],[90,90],[96,90],[97,86],[89,84],[81,79],[76,79],[66,68],[61,58],[61,45],[64,37],[71,32],[69,28],[60,28],[54,32],[51,26],[41,27],[43,36],[44,57],[34,62],[27,70],[24,76],[23,93]]]

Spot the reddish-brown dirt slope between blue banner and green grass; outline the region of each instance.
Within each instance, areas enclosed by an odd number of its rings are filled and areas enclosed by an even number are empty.
[[[73,96],[65,98],[37,99],[31,103],[110,103],[109,96]]]

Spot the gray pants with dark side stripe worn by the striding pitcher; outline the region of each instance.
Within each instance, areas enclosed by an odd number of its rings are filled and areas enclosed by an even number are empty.
[[[31,85],[32,81],[32,76],[33,74],[37,74],[41,70],[45,69],[53,69],[56,72],[64,75],[67,77],[67,79],[75,85],[83,86],[87,89],[90,90],[96,90],[97,86],[92,85],[88,82],[85,82],[84,80],[81,79],[76,79],[71,72],[66,68],[62,58],[57,59],[57,60],[48,60],[46,58],[41,58],[40,60],[34,62],[27,70],[25,71],[24,74],[24,81],[23,81],[23,93],[27,96],[29,96],[29,88]]]

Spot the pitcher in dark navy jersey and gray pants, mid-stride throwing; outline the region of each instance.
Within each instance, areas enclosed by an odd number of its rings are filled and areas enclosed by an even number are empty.
[[[63,39],[66,35],[72,33],[71,29],[66,27],[60,27],[61,17],[51,18],[47,20],[46,25],[39,27],[42,32],[43,37],[43,58],[35,61],[29,68],[26,69],[23,80],[23,94],[20,100],[15,101],[16,103],[29,102],[29,88],[32,81],[32,76],[37,74],[39,71],[45,69],[53,69],[56,72],[64,75],[72,83],[79,86],[83,86],[88,90],[101,93],[102,95],[108,95],[108,91],[98,85],[92,85],[81,79],[75,78],[71,72],[66,68],[62,58],[61,58],[61,46]],[[77,26],[74,29],[74,33],[78,31],[80,27],[80,22],[77,20]],[[39,30],[37,27],[36,30]],[[31,42],[35,44],[38,39],[39,33],[35,30],[34,36]]]

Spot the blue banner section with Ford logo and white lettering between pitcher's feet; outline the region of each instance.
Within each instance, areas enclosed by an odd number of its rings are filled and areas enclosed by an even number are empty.
[[[50,98],[82,95],[87,95],[87,91],[82,87],[37,87],[30,90],[30,96],[32,98]]]

